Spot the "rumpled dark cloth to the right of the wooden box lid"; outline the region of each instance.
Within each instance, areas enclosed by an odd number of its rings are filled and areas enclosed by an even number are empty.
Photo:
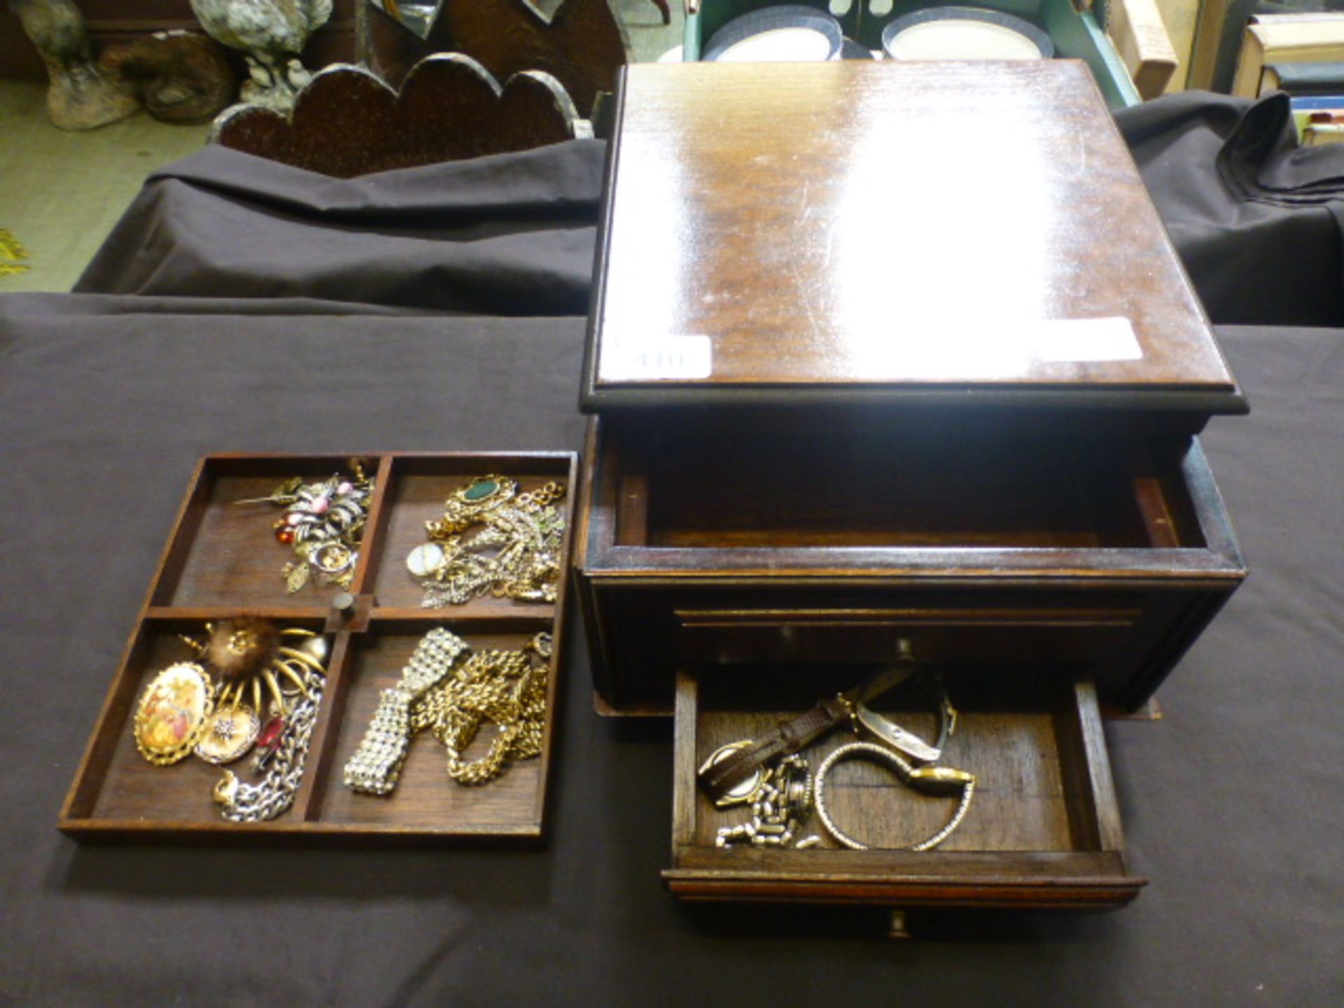
[[[1212,321],[1344,325],[1344,145],[1298,148],[1282,94],[1185,91],[1116,122]]]

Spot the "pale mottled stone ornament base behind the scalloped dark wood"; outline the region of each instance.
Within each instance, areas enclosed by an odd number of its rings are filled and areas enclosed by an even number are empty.
[[[332,16],[332,0],[191,0],[216,42],[243,51],[249,79],[242,99],[288,112],[312,79],[298,56],[308,36]]]

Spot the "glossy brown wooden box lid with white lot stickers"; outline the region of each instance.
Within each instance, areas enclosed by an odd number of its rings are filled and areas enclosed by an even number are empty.
[[[626,67],[589,410],[1245,411],[1077,60]]]

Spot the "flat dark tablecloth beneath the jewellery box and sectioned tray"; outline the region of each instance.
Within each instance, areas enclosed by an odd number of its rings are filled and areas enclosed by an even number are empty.
[[[871,910],[663,890],[671,727],[593,712],[577,612],[543,851],[60,836],[200,454],[578,449],[583,325],[50,308],[0,300],[0,1004],[1344,1003],[1344,333],[1223,332],[1254,413],[1204,445],[1253,574],[1164,719],[1106,728],[1152,884],[1099,917],[917,915],[892,942]]]

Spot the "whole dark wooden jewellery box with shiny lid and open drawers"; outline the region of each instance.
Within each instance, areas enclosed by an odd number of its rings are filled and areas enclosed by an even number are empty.
[[[1196,438],[1246,406],[1086,67],[632,66],[609,157],[577,585],[599,707],[677,719],[668,884],[1132,899],[1099,710],[1246,574]],[[716,847],[696,769],[902,653],[962,711],[960,829]],[[946,813],[866,763],[833,801],[888,848]]]

